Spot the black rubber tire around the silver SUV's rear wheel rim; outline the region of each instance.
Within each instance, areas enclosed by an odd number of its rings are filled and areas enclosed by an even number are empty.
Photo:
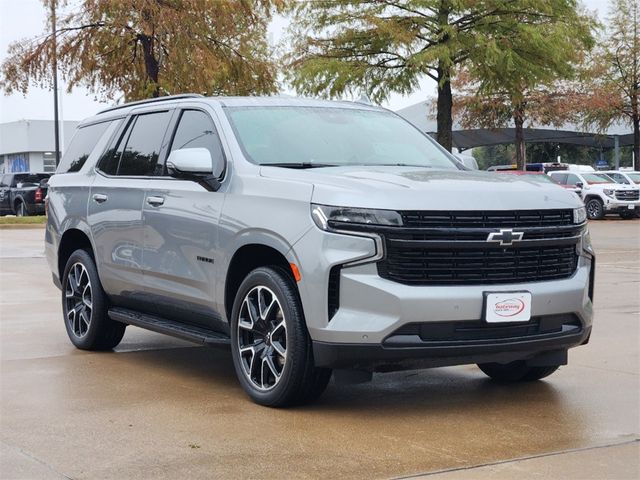
[[[91,321],[89,322],[88,331],[83,337],[76,336],[67,319],[67,302],[65,295],[67,277],[71,267],[76,263],[81,263],[84,266],[87,270],[87,274],[89,275],[89,281],[91,282]],[[106,321],[109,321],[106,315],[106,306],[106,297],[102,290],[102,284],[100,283],[100,278],[98,277],[98,271],[93,261],[93,257],[85,250],[76,250],[67,260],[67,265],[65,266],[64,273],[62,275],[62,314],[64,318],[64,326],[67,330],[67,335],[69,336],[71,343],[83,350],[93,348],[93,345],[96,343],[96,337],[100,334],[101,325]]]

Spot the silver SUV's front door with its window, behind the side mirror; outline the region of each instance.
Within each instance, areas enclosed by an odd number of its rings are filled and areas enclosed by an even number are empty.
[[[186,108],[178,112],[169,152],[207,148],[214,175],[222,178],[225,155],[213,112]],[[163,172],[164,173],[164,172]],[[191,180],[160,175],[149,181],[144,209],[145,285],[156,313],[224,330],[213,307],[218,221],[224,185],[211,191]]]

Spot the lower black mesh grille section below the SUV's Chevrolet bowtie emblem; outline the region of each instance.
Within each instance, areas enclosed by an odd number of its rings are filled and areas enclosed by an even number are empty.
[[[387,249],[378,274],[409,285],[479,285],[538,282],[570,277],[575,245],[525,248]]]

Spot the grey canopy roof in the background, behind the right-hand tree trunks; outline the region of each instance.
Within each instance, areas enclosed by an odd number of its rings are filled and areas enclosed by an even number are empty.
[[[396,113],[413,123],[423,132],[434,134],[437,131],[436,121],[430,112],[430,101],[416,103],[398,110]],[[526,142],[554,142],[571,143],[590,147],[611,148],[615,146],[615,136],[619,145],[633,145],[631,128],[617,124],[605,132],[586,131],[583,127],[566,123],[559,128],[548,125],[533,125],[524,129]],[[513,124],[506,128],[474,128],[464,129],[459,122],[453,124],[453,145],[456,148],[467,149],[486,145],[500,145],[513,143],[515,128]]]

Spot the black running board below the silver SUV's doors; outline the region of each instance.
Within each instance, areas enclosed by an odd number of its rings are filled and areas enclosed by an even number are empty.
[[[231,339],[223,333],[214,332],[213,330],[208,330],[203,327],[186,325],[184,323],[167,320],[166,318],[156,317],[146,313],[139,313],[126,308],[110,308],[109,317],[117,322],[146,328],[147,330],[171,335],[172,337],[204,345],[227,346],[231,342]]]

